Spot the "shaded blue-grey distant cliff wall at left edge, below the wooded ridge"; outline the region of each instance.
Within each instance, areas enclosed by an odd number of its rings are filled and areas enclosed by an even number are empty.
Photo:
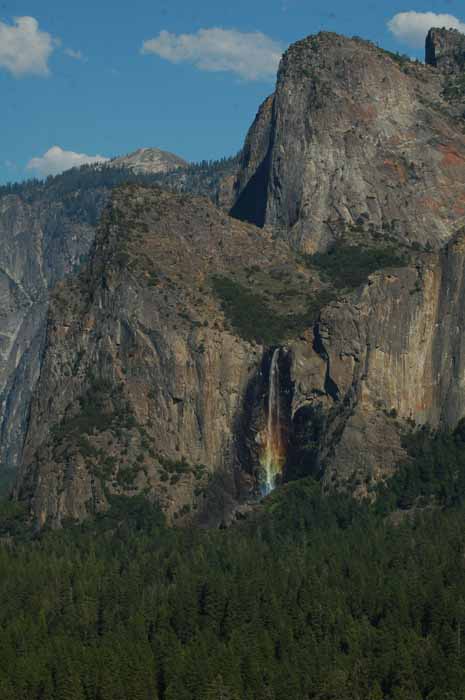
[[[12,474],[21,458],[48,290],[87,255],[104,200],[100,190],[84,206],[79,193],[52,202],[0,198],[0,477]]]

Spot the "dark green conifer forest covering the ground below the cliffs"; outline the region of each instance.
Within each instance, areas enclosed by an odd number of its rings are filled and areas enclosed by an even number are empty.
[[[34,538],[5,506],[1,700],[461,700],[464,443],[408,444],[375,506],[306,479],[229,530],[120,497]]]

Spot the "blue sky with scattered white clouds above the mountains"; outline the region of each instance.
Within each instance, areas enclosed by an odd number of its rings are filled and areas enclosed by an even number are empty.
[[[396,36],[388,22],[406,12],[422,14],[402,16]],[[0,0],[0,182],[45,172],[26,165],[52,146],[232,154],[273,90],[281,48],[326,29],[423,57],[415,37],[429,12],[465,22],[463,0]]]

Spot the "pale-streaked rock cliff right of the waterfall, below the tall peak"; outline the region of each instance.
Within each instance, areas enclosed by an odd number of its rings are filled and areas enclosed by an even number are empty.
[[[324,416],[328,485],[366,495],[402,457],[409,426],[452,429],[465,415],[464,271],[465,229],[439,254],[371,275],[323,309],[312,352],[295,346],[293,419]]]

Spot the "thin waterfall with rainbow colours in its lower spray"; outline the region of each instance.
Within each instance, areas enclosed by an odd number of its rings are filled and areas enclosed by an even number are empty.
[[[265,449],[261,466],[265,471],[265,482],[262,484],[264,495],[270,493],[281,476],[285,461],[285,450],[282,436],[280,377],[279,377],[280,348],[273,352],[268,379],[268,418],[266,427]]]

